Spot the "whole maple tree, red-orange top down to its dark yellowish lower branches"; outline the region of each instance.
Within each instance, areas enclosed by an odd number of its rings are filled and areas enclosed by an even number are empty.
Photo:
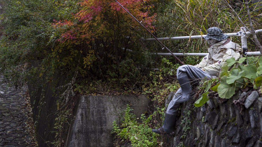
[[[119,0],[119,3],[151,32],[155,30],[152,22],[156,14],[150,14],[153,6],[148,5],[149,0]],[[135,40],[145,30],[114,0],[83,0],[78,5],[79,11],[72,14],[71,20],[54,20],[52,24],[60,32],[56,40],[59,45],[54,49],[58,61],[72,68],[79,66],[83,77],[87,71],[103,79],[105,75],[121,79],[130,75],[132,68],[123,72],[115,67],[126,60],[123,48],[132,49],[133,44],[126,36]]]

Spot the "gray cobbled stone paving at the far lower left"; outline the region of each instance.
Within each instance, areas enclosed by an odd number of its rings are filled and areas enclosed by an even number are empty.
[[[0,84],[0,91],[3,93],[0,94],[0,146],[35,146],[29,129],[26,129],[26,124],[30,122],[29,110],[25,106],[26,87],[16,89]]]

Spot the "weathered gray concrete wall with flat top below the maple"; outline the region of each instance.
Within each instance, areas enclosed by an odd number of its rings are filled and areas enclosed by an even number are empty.
[[[113,146],[113,121],[123,119],[126,105],[140,117],[148,107],[148,99],[140,96],[81,96],[75,109],[66,146]]]

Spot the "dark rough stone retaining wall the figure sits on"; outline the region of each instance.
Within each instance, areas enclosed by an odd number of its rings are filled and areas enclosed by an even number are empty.
[[[262,146],[262,97],[257,91],[213,97],[202,107],[193,103],[183,103],[171,146]]]

